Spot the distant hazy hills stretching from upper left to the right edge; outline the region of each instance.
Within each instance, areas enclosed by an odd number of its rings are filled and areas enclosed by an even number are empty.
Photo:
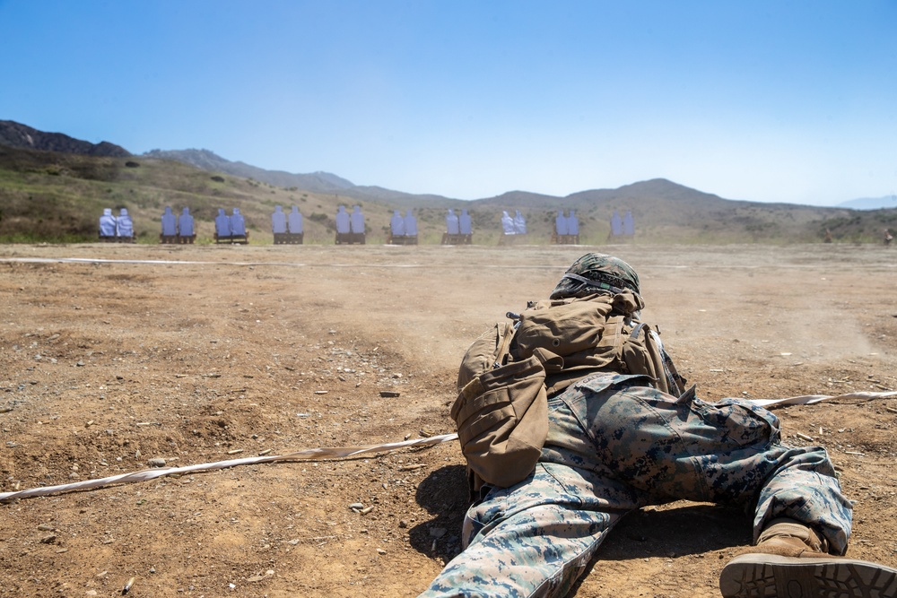
[[[609,221],[614,211],[621,215],[632,212],[640,242],[664,239],[685,243],[814,242],[825,237],[826,229],[832,231],[833,239],[877,242],[884,227],[894,225],[891,214],[887,212],[870,215],[854,212],[860,208],[873,209],[875,204],[870,202],[846,203],[832,208],[758,204],[723,199],[662,178],[618,189],[581,191],[566,197],[510,191],[466,202],[441,195],[406,194],[380,186],[356,186],[345,178],[326,172],[292,174],[260,169],[243,162],[226,160],[208,150],[153,150],[144,156],[178,160],[199,169],[252,178],[274,186],[296,186],[312,192],[338,194],[352,198],[355,203],[385,204],[402,210],[418,210],[428,206],[424,213],[437,229],[442,226],[441,215],[431,212],[431,208],[467,208],[474,217],[475,229],[496,231],[501,227],[502,210],[513,213],[519,209],[527,216],[528,228],[533,233],[527,242],[536,243],[551,237],[557,210],[569,209],[576,210],[579,220],[587,224],[584,234],[590,243],[607,240]],[[888,204],[878,204],[879,208],[882,206],[887,207]],[[433,232],[434,235],[438,233],[438,230]],[[531,240],[536,235],[539,240]],[[497,241],[498,234],[494,237]],[[487,235],[487,238],[491,239],[492,236]]]

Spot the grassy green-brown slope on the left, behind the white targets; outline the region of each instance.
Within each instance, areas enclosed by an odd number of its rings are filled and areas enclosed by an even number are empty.
[[[118,213],[127,208],[138,242],[157,243],[165,206],[175,212],[187,206],[196,218],[199,243],[211,242],[218,210],[230,213],[234,207],[246,216],[251,243],[271,243],[270,217],[278,204],[285,210],[294,204],[299,207],[305,216],[307,244],[334,242],[335,213],[341,204],[347,210],[361,205],[370,243],[384,243],[393,210],[406,209],[343,194],[274,186],[174,160],[95,158],[0,145],[0,242],[95,241],[103,209]],[[414,209],[420,242],[438,244],[445,230],[445,208],[424,205]],[[497,244],[501,213],[480,216],[483,230],[477,232],[477,242]]]

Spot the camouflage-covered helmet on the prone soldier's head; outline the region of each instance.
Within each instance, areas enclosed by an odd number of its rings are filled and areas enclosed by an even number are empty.
[[[586,254],[567,268],[551,299],[585,297],[597,292],[618,293],[624,289],[636,295],[640,293],[639,275],[630,264],[619,257]]]

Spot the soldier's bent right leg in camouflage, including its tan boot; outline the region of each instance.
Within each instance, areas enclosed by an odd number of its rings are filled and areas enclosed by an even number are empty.
[[[819,446],[779,440],[779,421],[752,403],[703,403],[587,379],[579,409],[598,456],[653,501],[709,500],[753,509],[758,545],[720,576],[727,598],[897,595],[897,570],[844,553],[851,508]],[[602,444],[601,438],[609,441]]]

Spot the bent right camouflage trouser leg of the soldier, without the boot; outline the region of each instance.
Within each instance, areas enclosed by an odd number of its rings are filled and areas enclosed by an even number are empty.
[[[629,385],[629,386],[627,386]],[[791,448],[779,420],[753,403],[677,399],[644,386],[580,383],[598,458],[652,502],[677,499],[738,506],[754,515],[754,538],[772,519],[812,527],[833,552],[850,533],[850,503],[819,446]]]

